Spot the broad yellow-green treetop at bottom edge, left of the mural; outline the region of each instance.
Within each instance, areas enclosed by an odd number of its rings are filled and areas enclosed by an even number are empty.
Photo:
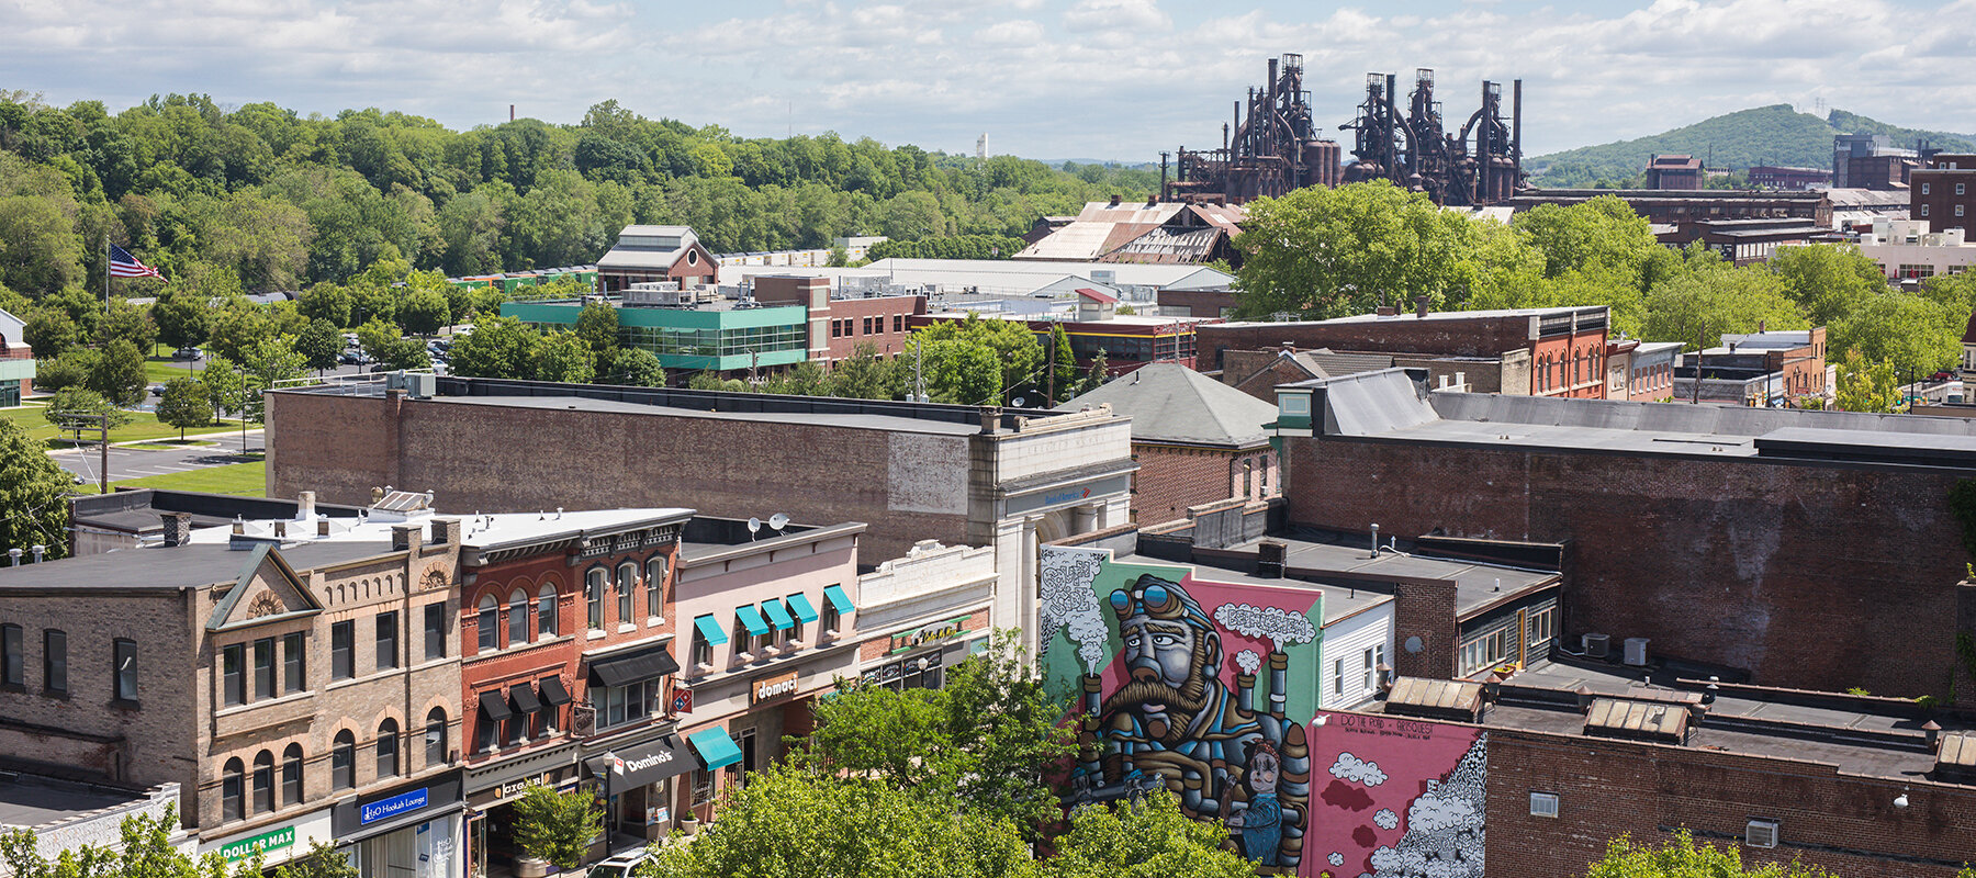
[[[790,765],[721,801],[719,829],[660,848],[640,878],[1039,878],[1008,821],[937,799]]]

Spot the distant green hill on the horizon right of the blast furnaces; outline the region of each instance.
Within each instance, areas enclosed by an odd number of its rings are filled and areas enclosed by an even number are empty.
[[[1832,111],[1830,119],[1818,119],[1780,103],[1703,119],[1636,140],[1533,156],[1525,160],[1525,166],[1531,170],[1531,182],[1553,188],[1626,182],[1638,176],[1654,154],[1703,156],[1709,168],[1749,168],[1751,164],[1830,168],[1832,134],[1887,134],[1893,142],[1907,146],[1913,146],[1917,138],[1927,138],[1946,150],[1976,152],[1976,142],[1964,134],[1901,129],[1846,111]]]

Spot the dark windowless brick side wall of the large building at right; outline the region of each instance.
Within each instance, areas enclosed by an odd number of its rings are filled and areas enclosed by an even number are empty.
[[[1397,536],[1565,542],[1563,643],[1652,653],[1757,682],[1946,694],[1954,475],[1644,455],[1286,439],[1292,522]]]

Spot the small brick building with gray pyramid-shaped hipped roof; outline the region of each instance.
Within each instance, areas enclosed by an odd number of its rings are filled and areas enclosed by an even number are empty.
[[[1150,364],[1107,382],[1065,409],[1109,403],[1132,419],[1132,518],[1168,522],[1188,506],[1282,492],[1263,425],[1276,407],[1180,364]]]

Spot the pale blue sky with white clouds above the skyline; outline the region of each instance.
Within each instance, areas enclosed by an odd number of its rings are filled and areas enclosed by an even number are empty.
[[[1976,132],[1976,0],[0,0],[0,91],[111,111],[154,93],[451,129],[617,99],[739,136],[1026,158],[1219,146],[1265,63],[1304,57],[1320,127],[1365,73],[1437,71],[1446,117],[1523,79],[1523,150],[1774,103]]]

